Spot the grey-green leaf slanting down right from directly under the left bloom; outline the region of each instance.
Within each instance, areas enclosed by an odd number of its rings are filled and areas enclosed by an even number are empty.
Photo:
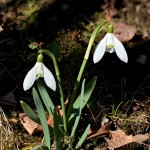
[[[49,114],[51,115],[51,117],[53,118],[53,111],[54,111],[54,104],[51,100],[51,98],[49,97],[46,88],[44,87],[43,83],[41,82],[41,80],[37,80],[37,86],[38,86],[38,90],[40,92],[40,95],[42,97],[42,100],[47,108],[47,111],[49,112]]]

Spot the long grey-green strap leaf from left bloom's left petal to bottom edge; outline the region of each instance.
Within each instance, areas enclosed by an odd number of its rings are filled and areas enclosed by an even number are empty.
[[[48,149],[50,149],[50,147],[51,147],[51,145],[50,145],[50,132],[49,132],[48,124],[47,124],[47,119],[46,119],[44,107],[41,103],[40,97],[39,97],[37,91],[35,90],[35,88],[32,89],[32,94],[33,94],[33,99],[34,99],[36,108],[38,110],[41,125],[42,125],[42,128],[43,128],[43,133],[44,133],[44,138],[45,138],[45,145],[48,147]]]

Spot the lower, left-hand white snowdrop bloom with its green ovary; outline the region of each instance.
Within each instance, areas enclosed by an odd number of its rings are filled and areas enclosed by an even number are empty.
[[[56,81],[50,70],[43,64],[43,55],[39,54],[37,62],[34,67],[27,73],[24,82],[23,89],[26,91],[32,87],[35,80],[39,77],[44,77],[46,85],[52,90],[56,90]]]

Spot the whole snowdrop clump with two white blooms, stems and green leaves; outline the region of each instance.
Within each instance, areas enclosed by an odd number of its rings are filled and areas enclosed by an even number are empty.
[[[53,144],[51,143],[52,139],[55,141],[54,143],[57,150],[79,149],[83,142],[86,140],[90,130],[90,124],[87,125],[81,137],[77,137],[77,127],[79,125],[82,110],[87,104],[94,90],[97,77],[93,77],[90,82],[86,84],[86,79],[83,79],[82,76],[89,59],[94,40],[104,27],[107,27],[107,33],[95,49],[93,62],[99,62],[104,56],[105,52],[116,52],[116,55],[120,58],[120,60],[126,63],[128,61],[128,56],[124,46],[113,34],[113,25],[106,20],[102,20],[91,34],[73,92],[69,97],[67,109],[64,101],[65,97],[62,90],[63,88],[61,84],[60,71],[55,55],[50,50],[35,47],[38,50],[37,62],[35,63],[34,67],[27,73],[23,82],[23,89],[25,91],[29,90],[33,86],[34,82],[37,83],[37,89],[33,87],[32,94],[38,115],[32,110],[32,108],[30,108],[27,103],[23,101],[20,102],[24,112],[28,115],[28,117],[33,121],[41,124],[43,128],[44,142],[35,146],[33,149],[42,148],[50,150]],[[47,55],[52,60],[55,68],[55,75],[53,75],[53,73],[43,63],[45,55]],[[39,79],[40,77],[44,78],[44,82],[46,84],[43,84],[43,80]],[[50,98],[50,94],[44,85],[48,86],[54,92],[56,88],[58,88],[60,92],[62,117],[59,115],[57,107],[53,104],[53,101]],[[79,90],[80,95],[77,95]],[[47,116],[45,115],[44,108],[46,108],[46,111],[53,120],[53,127],[47,124]]]

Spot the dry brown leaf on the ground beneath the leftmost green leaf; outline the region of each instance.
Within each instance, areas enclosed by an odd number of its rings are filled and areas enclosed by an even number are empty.
[[[22,125],[27,130],[27,132],[32,135],[35,132],[42,131],[42,126],[31,120],[25,113],[19,114]]]

